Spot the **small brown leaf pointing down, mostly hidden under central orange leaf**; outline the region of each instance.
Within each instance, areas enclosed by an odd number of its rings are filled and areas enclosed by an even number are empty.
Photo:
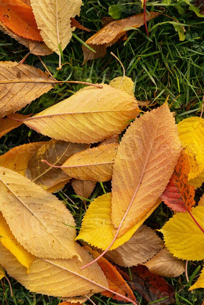
[[[95,181],[86,181],[80,179],[72,179],[71,185],[76,193],[76,195],[84,198],[88,198],[93,192],[96,182]]]

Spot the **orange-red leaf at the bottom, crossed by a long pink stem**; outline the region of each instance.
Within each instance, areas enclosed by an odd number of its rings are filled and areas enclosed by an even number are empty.
[[[94,259],[100,255],[97,251],[92,250],[88,246],[85,246],[85,250],[88,251],[93,256]],[[122,295],[132,299],[133,301],[136,301],[135,296],[134,296],[132,290],[130,289],[130,287],[128,286],[128,284],[125,282],[125,280],[116,270],[116,268],[113,265],[111,265],[111,263],[109,263],[108,260],[101,257],[97,261],[97,263],[101,267],[101,269],[107,279],[109,289],[111,289],[119,294],[122,294]],[[124,298],[121,298],[116,294],[110,293],[109,291],[104,291],[101,294],[103,294],[107,297],[113,298],[114,300],[119,300],[119,301],[124,300]]]

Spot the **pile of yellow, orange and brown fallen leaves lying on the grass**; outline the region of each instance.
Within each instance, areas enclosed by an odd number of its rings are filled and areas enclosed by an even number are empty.
[[[71,10],[71,1],[59,1],[63,11],[57,2],[0,2],[2,31],[37,55],[61,55],[73,31],[70,18],[80,26],[73,19],[80,0]],[[85,60],[126,39],[124,26],[144,22],[144,14],[110,22],[86,41]],[[70,303],[102,293],[136,304],[132,289],[147,302],[174,303],[163,276],[181,275],[185,260],[204,259],[204,197],[197,206],[194,200],[204,182],[202,117],[175,124],[167,102],[140,112],[134,83],[125,76],[90,84],[36,115],[20,115],[15,112],[61,81],[23,63],[1,62],[0,68],[0,135],[26,124],[51,138],[0,157],[2,267],[30,291]],[[85,204],[96,182],[109,180],[112,193],[90,203],[76,236],[75,219],[53,193],[70,181]],[[143,225],[162,201],[174,211],[159,230],[164,242]],[[132,279],[124,267],[131,267]],[[204,288],[203,272],[189,289],[195,288]]]

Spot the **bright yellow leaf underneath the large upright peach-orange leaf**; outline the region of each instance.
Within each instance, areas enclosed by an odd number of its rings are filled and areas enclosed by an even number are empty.
[[[107,195],[102,195],[91,202],[89,209],[83,218],[82,226],[76,239],[83,239],[91,246],[103,250],[110,245],[114,237],[114,227],[111,223],[111,198],[112,194],[109,193]],[[156,207],[160,202],[161,200],[159,199]],[[148,216],[152,214],[152,212],[153,210],[149,212]],[[140,219],[137,225],[131,227],[124,235],[117,238],[110,250],[113,250],[127,242],[137,230],[138,226],[143,222],[144,219]]]

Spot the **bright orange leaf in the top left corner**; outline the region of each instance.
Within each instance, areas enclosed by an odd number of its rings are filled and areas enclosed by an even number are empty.
[[[32,8],[21,0],[0,0],[0,21],[18,36],[43,41]]]

